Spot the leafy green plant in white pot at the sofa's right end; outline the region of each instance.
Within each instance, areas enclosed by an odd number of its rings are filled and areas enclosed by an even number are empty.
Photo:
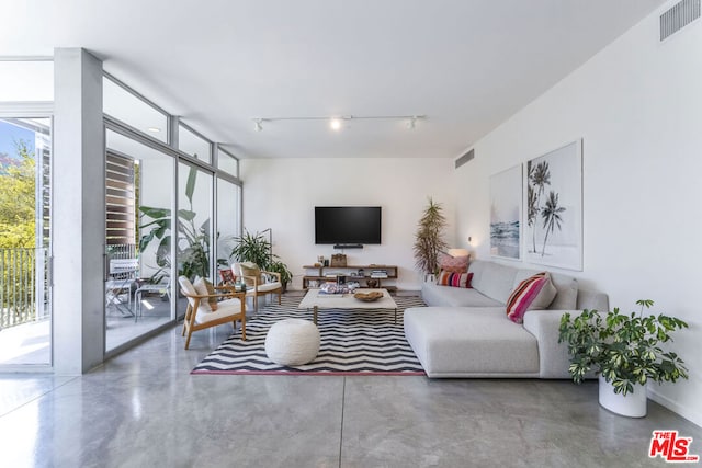
[[[660,343],[672,341],[671,333],[688,324],[675,317],[644,315],[654,301],[637,300],[638,313],[620,313],[614,308],[604,317],[597,310],[584,310],[571,317],[564,313],[558,342],[570,353],[568,372],[580,384],[595,370],[600,379],[600,404],[619,414],[646,415],[646,383],[688,378],[678,355],[664,352]]]

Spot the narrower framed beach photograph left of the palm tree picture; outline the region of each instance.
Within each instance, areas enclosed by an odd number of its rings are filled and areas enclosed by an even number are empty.
[[[521,259],[522,165],[490,176],[490,255]]]

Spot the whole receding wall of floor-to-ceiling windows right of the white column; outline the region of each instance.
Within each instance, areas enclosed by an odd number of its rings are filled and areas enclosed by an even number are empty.
[[[236,157],[111,76],[103,111],[111,353],[184,315],[179,275],[216,281],[241,226],[241,184]]]

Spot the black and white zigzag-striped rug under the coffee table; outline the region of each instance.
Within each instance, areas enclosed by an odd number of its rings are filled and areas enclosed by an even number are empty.
[[[305,375],[424,375],[405,339],[403,311],[422,307],[419,296],[396,296],[395,311],[383,309],[326,309],[317,327],[321,345],[309,364],[287,367],[265,355],[265,334],[273,323],[288,318],[312,320],[312,311],[297,309],[302,297],[283,297],[279,306],[262,306],[247,320],[246,341],[237,331],[203,359],[192,374],[305,374]]]

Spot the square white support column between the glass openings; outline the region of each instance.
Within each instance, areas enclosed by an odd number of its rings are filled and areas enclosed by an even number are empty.
[[[81,48],[54,60],[54,367],[77,375],[102,363],[105,342],[102,61]]]

